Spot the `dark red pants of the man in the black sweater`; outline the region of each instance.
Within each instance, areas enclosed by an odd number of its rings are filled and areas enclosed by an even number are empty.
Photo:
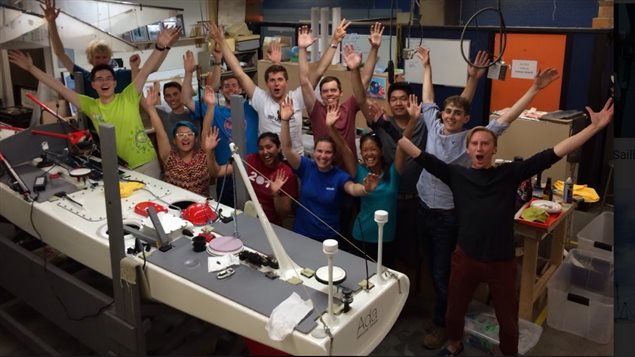
[[[452,253],[448,287],[446,333],[451,340],[463,337],[465,314],[479,283],[487,283],[496,319],[500,326],[500,349],[504,355],[518,354],[518,298],[516,296],[516,260],[481,262],[468,257],[457,245]]]

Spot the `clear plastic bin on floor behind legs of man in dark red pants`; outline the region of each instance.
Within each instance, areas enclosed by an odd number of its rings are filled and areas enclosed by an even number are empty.
[[[465,317],[464,331],[464,343],[491,355],[496,353],[499,326],[494,308],[473,301]],[[520,319],[518,332],[518,353],[524,355],[538,343],[542,327]]]

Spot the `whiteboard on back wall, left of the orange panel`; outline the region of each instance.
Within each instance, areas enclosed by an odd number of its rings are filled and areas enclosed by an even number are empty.
[[[408,42],[408,40],[410,42]],[[410,48],[419,47],[420,38],[408,38]],[[467,63],[461,56],[461,40],[446,40],[439,38],[424,38],[422,47],[430,50],[430,65],[432,66],[432,83],[451,87],[464,87],[467,79]],[[383,46],[382,46],[383,47]],[[463,41],[466,56],[470,53],[470,41]],[[406,80],[410,83],[423,83],[423,66],[416,53],[412,59],[404,61]]]

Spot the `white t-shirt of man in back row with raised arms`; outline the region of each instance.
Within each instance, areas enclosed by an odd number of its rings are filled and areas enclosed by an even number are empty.
[[[291,145],[295,151],[304,155],[304,145],[302,144],[302,108],[304,99],[300,87],[287,93],[293,100],[293,116],[289,120],[289,131],[291,133]],[[258,112],[258,135],[264,132],[272,132],[280,135],[280,119],[278,111],[280,105],[271,97],[269,91],[264,91],[256,87],[251,97],[251,105]]]

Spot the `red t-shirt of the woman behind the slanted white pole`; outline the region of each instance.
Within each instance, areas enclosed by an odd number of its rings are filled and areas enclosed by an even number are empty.
[[[282,225],[282,219],[278,217],[276,213],[276,208],[273,205],[273,195],[271,194],[271,183],[269,180],[275,179],[275,174],[278,170],[284,170],[286,176],[288,177],[287,182],[282,186],[282,189],[288,193],[291,197],[297,199],[298,198],[298,178],[293,173],[293,170],[289,165],[284,162],[281,162],[276,168],[269,168],[265,166],[265,164],[260,160],[258,154],[247,155],[247,163],[249,164],[247,169],[247,177],[249,177],[249,181],[251,181],[251,186],[253,186],[254,191],[256,192],[256,196],[258,197],[258,201],[260,201],[260,205],[262,206],[262,210],[265,211],[269,222],[273,224],[277,224],[279,226]],[[253,167],[253,168],[252,168]],[[260,174],[258,174],[254,169],[258,170],[262,175],[267,177],[269,180],[263,178]],[[280,193],[283,195],[284,193]]]

